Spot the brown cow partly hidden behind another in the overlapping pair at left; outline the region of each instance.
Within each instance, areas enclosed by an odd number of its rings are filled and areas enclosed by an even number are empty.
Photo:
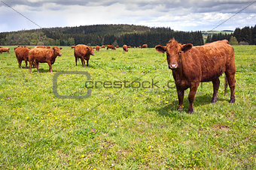
[[[19,63],[19,67],[22,69],[23,67],[21,67],[21,63],[22,61],[25,61],[26,63],[26,68],[28,68],[28,61],[29,61],[29,48],[27,47],[22,47],[22,46],[19,46],[19,47],[15,47],[14,48],[14,51],[15,51],[15,55],[16,55],[16,58],[17,58],[17,61]]]

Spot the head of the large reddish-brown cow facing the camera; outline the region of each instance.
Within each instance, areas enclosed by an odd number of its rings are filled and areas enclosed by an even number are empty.
[[[181,43],[178,43],[174,38],[172,38],[172,40],[169,40],[169,43],[167,43],[166,46],[158,45],[155,46],[155,49],[160,53],[166,52],[169,69],[175,70],[181,65],[181,57],[185,52],[191,49],[192,46],[193,45],[191,43],[181,45]]]

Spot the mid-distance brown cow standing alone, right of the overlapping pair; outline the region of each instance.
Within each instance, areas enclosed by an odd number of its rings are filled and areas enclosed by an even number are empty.
[[[81,62],[83,67],[85,67],[85,61],[87,61],[87,67],[89,66],[89,60],[90,60],[90,55],[95,55],[93,52],[93,47],[86,46],[84,44],[78,44],[75,46],[75,65],[78,65],[78,58],[81,58]]]

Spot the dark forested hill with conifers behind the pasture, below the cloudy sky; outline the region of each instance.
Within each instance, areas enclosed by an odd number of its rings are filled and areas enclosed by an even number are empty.
[[[56,45],[71,46],[79,43],[89,46],[113,44],[123,46],[149,47],[157,44],[165,45],[175,37],[180,43],[202,45],[200,31],[173,31],[171,28],[150,28],[142,25],[84,25],[64,28],[42,28],[28,31],[0,33],[2,45]]]

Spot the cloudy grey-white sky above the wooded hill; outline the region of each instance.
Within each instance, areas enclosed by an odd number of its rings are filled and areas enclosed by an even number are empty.
[[[238,13],[240,10],[242,12]],[[177,31],[210,31],[224,22],[215,28],[215,31],[221,31],[254,26],[256,1],[0,0],[0,17],[0,32],[29,30],[39,26],[53,28],[96,24],[133,24],[170,27]]]

